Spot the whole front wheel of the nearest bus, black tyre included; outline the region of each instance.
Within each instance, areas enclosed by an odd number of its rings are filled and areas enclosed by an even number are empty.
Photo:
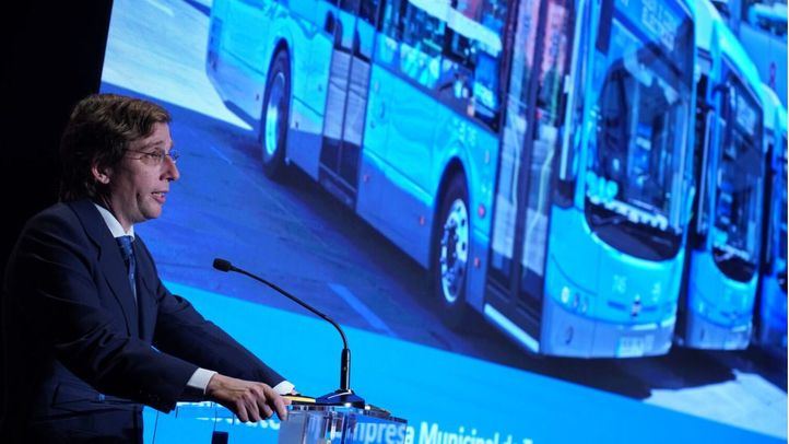
[[[471,234],[468,202],[463,176],[457,175],[444,196],[433,244],[435,292],[443,307],[444,322],[456,329],[463,326],[469,311],[466,304]]]

